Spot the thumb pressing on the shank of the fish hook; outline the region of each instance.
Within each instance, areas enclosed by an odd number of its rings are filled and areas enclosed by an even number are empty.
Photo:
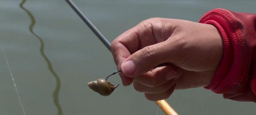
[[[124,60],[122,72],[131,78],[144,74],[159,64],[169,62],[173,50],[172,43],[167,41],[144,47]]]

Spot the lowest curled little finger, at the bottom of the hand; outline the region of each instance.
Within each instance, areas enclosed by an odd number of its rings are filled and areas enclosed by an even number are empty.
[[[173,93],[175,86],[176,86],[176,84],[174,84],[170,89],[168,89],[167,91],[165,91],[163,93],[157,93],[157,94],[145,93],[145,97],[150,101],[158,101],[158,100],[162,100],[162,99],[167,99]]]

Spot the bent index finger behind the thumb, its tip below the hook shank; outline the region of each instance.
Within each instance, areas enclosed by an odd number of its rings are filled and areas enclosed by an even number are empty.
[[[137,26],[127,30],[111,43],[111,52],[117,69],[120,69],[123,61],[132,53],[140,49],[140,47],[156,43],[152,29],[150,28],[151,25],[142,25],[144,24],[140,23]],[[127,78],[123,73],[120,73],[119,75],[124,86],[132,83],[133,78]]]

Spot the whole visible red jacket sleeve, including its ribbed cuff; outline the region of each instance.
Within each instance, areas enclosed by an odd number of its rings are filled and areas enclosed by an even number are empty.
[[[213,9],[199,23],[218,28],[224,45],[221,64],[205,88],[227,99],[256,102],[256,14]]]

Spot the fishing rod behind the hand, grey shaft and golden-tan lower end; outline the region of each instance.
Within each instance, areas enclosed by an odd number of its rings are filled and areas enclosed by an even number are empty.
[[[93,25],[93,23],[84,15],[84,13],[76,6],[76,4],[71,0],[65,0],[70,7],[78,14],[78,16],[86,23],[87,26],[93,31],[93,33],[101,40],[101,42],[109,49],[110,51],[110,42],[106,39],[103,34]],[[165,112],[166,115],[178,115],[177,112],[165,101],[161,100],[155,101],[158,106]]]

